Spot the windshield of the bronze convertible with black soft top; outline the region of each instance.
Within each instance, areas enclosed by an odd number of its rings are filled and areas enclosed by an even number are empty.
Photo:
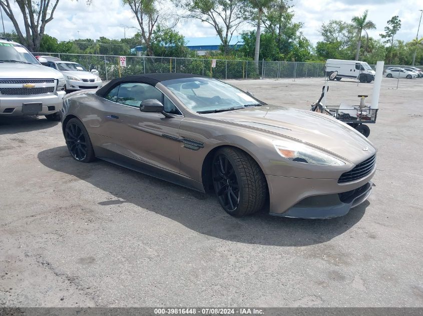
[[[211,78],[183,78],[163,81],[188,108],[199,112],[235,110],[261,105],[249,94],[222,81]]]

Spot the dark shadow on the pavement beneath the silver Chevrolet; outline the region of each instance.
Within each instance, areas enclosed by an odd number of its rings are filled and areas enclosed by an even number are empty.
[[[0,135],[47,129],[59,123],[49,121],[44,116],[0,116]]]

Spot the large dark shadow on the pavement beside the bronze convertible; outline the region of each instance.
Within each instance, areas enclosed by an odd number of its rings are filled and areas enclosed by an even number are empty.
[[[270,216],[264,212],[243,218],[226,214],[212,194],[192,191],[138,172],[97,160],[75,161],[66,146],[38,154],[46,167],[75,176],[113,194],[100,206],[131,203],[155,212],[200,234],[247,244],[297,247],[324,243],[343,234],[364,215],[366,201],[347,215],[331,220]]]

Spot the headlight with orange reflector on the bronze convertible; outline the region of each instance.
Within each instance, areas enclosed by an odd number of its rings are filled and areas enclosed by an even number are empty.
[[[343,161],[305,144],[284,142],[281,140],[274,140],[272,143],[278,154],[285,159],[320,166],[345,165]]]

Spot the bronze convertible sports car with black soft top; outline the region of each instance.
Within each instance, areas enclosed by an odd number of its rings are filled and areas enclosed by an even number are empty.
[[[61,118],[76,160],[214,190],[234,216],[342,216],[370,195],[376,170],[375,147],[348,125],[199,75],[115,79],[65,97]]]

